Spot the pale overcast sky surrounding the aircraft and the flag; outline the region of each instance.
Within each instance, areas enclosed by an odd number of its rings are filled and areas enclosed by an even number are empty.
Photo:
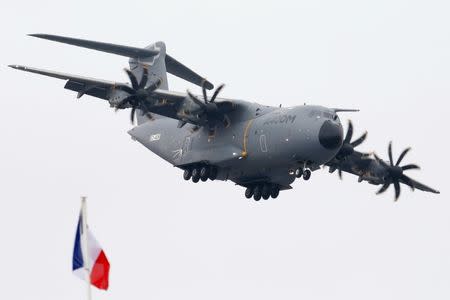
[[[3,1],[0,298],[82,299],[71,274],[80,195],[111,262],[96,299],[449,299],[448,1]],[[268,105],[359,108],[359,148],[412,146],[409,174],[441,190],[393,191],[327,171],[277,200],[192,184],[133,142],[128,111],[18,72],[126,81],[127,59],[26,37],[146,46]],[[170,88],[199,88],[173,77]]]

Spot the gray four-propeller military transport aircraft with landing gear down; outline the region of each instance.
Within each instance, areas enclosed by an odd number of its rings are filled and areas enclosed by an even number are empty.
[[[381,185],[377,194],[392,184],[395,200],[400,183],[412,190],[439,191],[421,184],[404,171],[419,169],[400,165],[410,148],[396,161],[392,143],[388,161],[376,154],[355,150],[367,132],[352,141],[349,122],[344,137],[339,112],[349,109],[314,105],[272,107],[243,100],[219,98],[224,85],[208,96],[213,84],[166,53],[163,42],[136,48],[47,34],[31,36],[122,55],[129,58],[125,69],[130,84],[74,76],[20,65],[10,67],[66,81],[64,88],[109,102],[119,109],[131,109],[137,126],[128,133],[150,151],[184,170],[193,182],[231,180],[245,187],[245,196],[254,200],[276,198],[280,190],[291,189],[296,178],[308,180],[311,172],[328,166],[358,176],[358,181]],[[202,88],[200,96],[168,90],[167,73]]]

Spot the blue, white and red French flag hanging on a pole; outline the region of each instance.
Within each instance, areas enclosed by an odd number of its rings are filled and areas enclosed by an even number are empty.
[[[100,244],[86,226],[83,220],[83,212],[78,220],[75,246],[73,249],[72,270],[75,276],[87,280],[88,272],[90,283],[101,289],[107,290],[109,284],[109,261]],[[86,230],[83,230],[86,228]],[[86,236],[85,236],[86,235]],[[87,247],[85,245],[87,242]],[[87,253],[85,252],[87,250]],[[85,261],[87,260],[87,261]]]

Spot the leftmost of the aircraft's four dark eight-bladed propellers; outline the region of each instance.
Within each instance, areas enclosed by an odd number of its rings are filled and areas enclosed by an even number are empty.
[[[156,90],[162,83],[161,78],[158,78],[156,81],[151,82],[148,84],[148,69],[144,67],[144,71],[142,73],[141,81],[138,82],[136,76],[128,69],[124,69],[125,73],[127,73],[128,78],[131,82],[131,87],[128,85],[119,85],[116,86],[116,89],[123,90],[127,92],[129,95],[128,97],[122,99],[117,105],[116,105],[116,111],[122,108],[126,108],[128,106],[131,107],[131,114],[130,119],[131,123],[134,123],[134,115],[136,112],[136,109],[140,109],[142,111],[142,114],[144,114],[144,111],[146,112],[145,115],[152,118],[152,115],[149,110],[149,102],[147,101],[147,98],[150,96],[151,92]],[[148,86],[147,86],[148,84]]]

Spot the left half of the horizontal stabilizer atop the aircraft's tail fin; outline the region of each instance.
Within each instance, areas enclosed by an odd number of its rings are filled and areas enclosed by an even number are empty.
[[[122,45],[115,45],[110,43],[102,43],[96,41],[88,41],[82,39],[74,39],[64,36],[51,35],[51,34],[30,34],[29,36],[37,37],[40,39],[46,39],[50,41],[60,42],[64,44],[74,45],[83,48],[94,49],[98,51],[103,51],[107,53],[123,55],[126,57],[152,57],[158,55],[158,51],[149,50],[144,48],[136,48]]]

